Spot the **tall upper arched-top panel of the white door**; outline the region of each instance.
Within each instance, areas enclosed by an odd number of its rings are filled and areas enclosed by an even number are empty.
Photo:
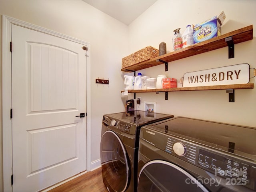
[[[76,109],[78,54],[40,43],[28,43],[28,50],[31,111]]]

